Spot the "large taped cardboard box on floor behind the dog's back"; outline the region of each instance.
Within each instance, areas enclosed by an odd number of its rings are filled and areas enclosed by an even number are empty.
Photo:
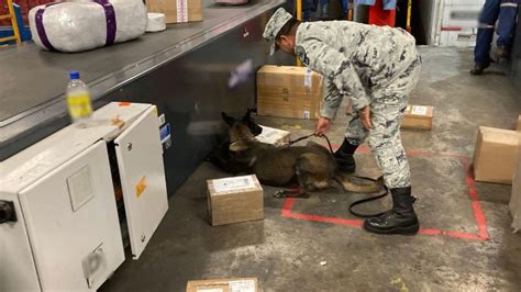
[[[257,71],[257,113],[319,119],[322,76],[306,67],[264,66]]]

